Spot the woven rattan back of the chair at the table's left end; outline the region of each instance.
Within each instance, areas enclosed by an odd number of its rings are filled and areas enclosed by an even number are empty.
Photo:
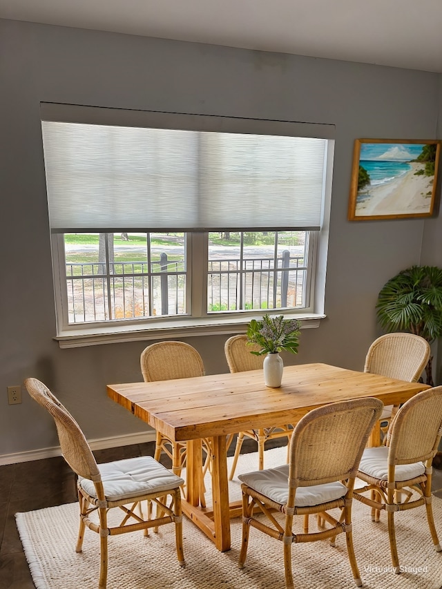
[[[27,378],[25,386],[30,396],[47,409],[57,426],[61,453],[75,474],[91,481],[99,481],[100,474],[90,446],[83,432],[59,400],[37,378]]]

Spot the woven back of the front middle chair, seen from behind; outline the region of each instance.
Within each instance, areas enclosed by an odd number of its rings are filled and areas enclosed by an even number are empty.
[[[289,485],[306,487],[354,479],[382,409],[380,400],[361,398],[324,405],[302,417],[290,441]]]

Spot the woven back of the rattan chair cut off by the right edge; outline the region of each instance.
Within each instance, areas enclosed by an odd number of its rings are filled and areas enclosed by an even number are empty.
[[[407,400],[388,431],[389,464],[425,462],[436,455],[442,433],[442,387]]]

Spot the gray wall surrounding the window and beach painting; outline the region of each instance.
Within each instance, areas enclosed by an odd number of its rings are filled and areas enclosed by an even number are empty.
[[[362,369],[379,334],[379,289],[412,264],[441,263],[439,218],[347,222],[354,139],[440,137],[439,75],[18,21],[0,21],[0,55],[0,457],[57,443],[26,392],[7,404],[6,387],[28,376],[53,389],[88,438],[145,429],[106,397],[106,383],[141,380],[144,342],[59,349],[52,339],[41,101],[336,125],[327,319],[302,331],[287,363]],[[188,340],[209,374],[227,371],[225,339]]]

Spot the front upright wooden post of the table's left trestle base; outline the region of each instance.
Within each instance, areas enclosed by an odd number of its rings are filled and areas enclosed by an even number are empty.
[[[212,497],[215,545],[218,550],[225,552],[230,550],[226,436],[212,438]]]

